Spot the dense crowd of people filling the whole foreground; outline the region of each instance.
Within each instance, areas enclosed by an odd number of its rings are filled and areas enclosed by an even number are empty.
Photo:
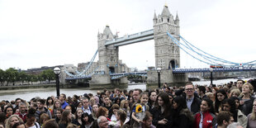
[[[217,86],[115,88],[66,97],[0,102],[0,128],[256,127],[255,81]]]

